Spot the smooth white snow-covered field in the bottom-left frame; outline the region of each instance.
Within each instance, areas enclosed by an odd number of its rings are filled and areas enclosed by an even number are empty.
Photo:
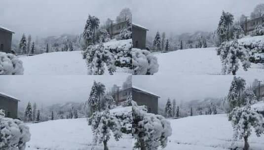
[[[60,119],[29,124],[31,141],[26,150],[90,150],[92,131],[86,118]],[[109,150],[132,150],[132,136],[123,134],[116,142],[112,137]],[[98,146],[96,150],[103,150]]]

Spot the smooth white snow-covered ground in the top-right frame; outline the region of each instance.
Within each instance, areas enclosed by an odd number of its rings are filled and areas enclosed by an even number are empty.
[[[221,60],[215,47],[177,50],[155,56],[159,64],[159,70],[155,75],[221,75]],[[260,74],[264,74],[262,64],[252,64],[247,72],[240,65],[237,71],[237,75]]]

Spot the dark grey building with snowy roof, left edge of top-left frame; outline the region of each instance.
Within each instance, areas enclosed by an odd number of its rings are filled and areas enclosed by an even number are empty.
[[[11,53],[13,31],[0,27],[0,51]]]

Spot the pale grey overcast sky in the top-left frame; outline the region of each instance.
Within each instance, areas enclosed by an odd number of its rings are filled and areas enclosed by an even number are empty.
[[[45,37],[80,34],[88,14],[115,19],[132,0],[1,0],[0,24],[15,32]]]

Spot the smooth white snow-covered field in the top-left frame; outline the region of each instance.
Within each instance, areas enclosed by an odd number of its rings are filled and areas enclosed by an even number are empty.
[[[19,59],[23,61],[24,75],[87,75],[87,66],[81,52],[51,52]],[[124,72],[117,68],[114,75],[127,75]]]

